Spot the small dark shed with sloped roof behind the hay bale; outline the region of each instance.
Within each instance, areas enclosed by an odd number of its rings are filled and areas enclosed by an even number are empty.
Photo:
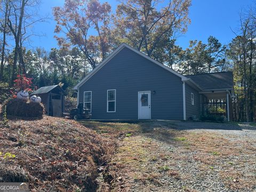
[[[41,97],[46,115],[60,117],[64,112],[65,94],[59,85],[41,87],[31,95]]]

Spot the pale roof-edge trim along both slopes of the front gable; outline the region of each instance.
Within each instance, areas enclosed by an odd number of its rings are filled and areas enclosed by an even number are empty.
[[[88,75],[86,75],[79,83],[76,84],[76,86],[73,88],[74,90],[77,90],[81,85],[83,85],[86,81],[88,81],[95,73],[97,73],[103,66],[105,66],[107,64],[108,61],[110,61],[112,58],[115,57],[115,55],[117,53],[119,53],[121,50],[123,50],[124,48],[130,49],[131,51],[141,55],[142,57],[148,59],[149,61],[155,63],[156,65],[164,68],[165,70],[169,71],[170,73],[177,75],[178,77],[181,78],[182,81],[187,81],[188,78],[179,74],[178,72],[174,71],[173,69],[163,65],[163,63],[154,60],[152,58],[150,58],[148,55],[135,50],[133,47],[131,47],[130,45],[127,45],[126,43],[122,43],[120,46],[117,47],[117,49],[115,51],[113,51],[105,60],[103,60],[97,67],[95,67]]]

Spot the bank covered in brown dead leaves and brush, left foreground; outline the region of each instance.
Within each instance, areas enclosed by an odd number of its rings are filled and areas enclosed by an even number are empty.
[[[10,120],[0,125],[0,182],[30,183],[31,191],[95,191],[98,167],[113,146],[62,118]]]

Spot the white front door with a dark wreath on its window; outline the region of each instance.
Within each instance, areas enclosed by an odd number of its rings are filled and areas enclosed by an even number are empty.
[[[151,119],[150,106],[150,91],[140,91],[138,93],[139,119]]]

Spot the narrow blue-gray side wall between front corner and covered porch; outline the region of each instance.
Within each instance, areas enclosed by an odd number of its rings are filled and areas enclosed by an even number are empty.
[[[185,85],[186,92],[186,118],[196,116],[200,117],[200,95],[197,90],[195,90],[190,85]],[[194,93],[194,105],[191,104],[191,93]]]

